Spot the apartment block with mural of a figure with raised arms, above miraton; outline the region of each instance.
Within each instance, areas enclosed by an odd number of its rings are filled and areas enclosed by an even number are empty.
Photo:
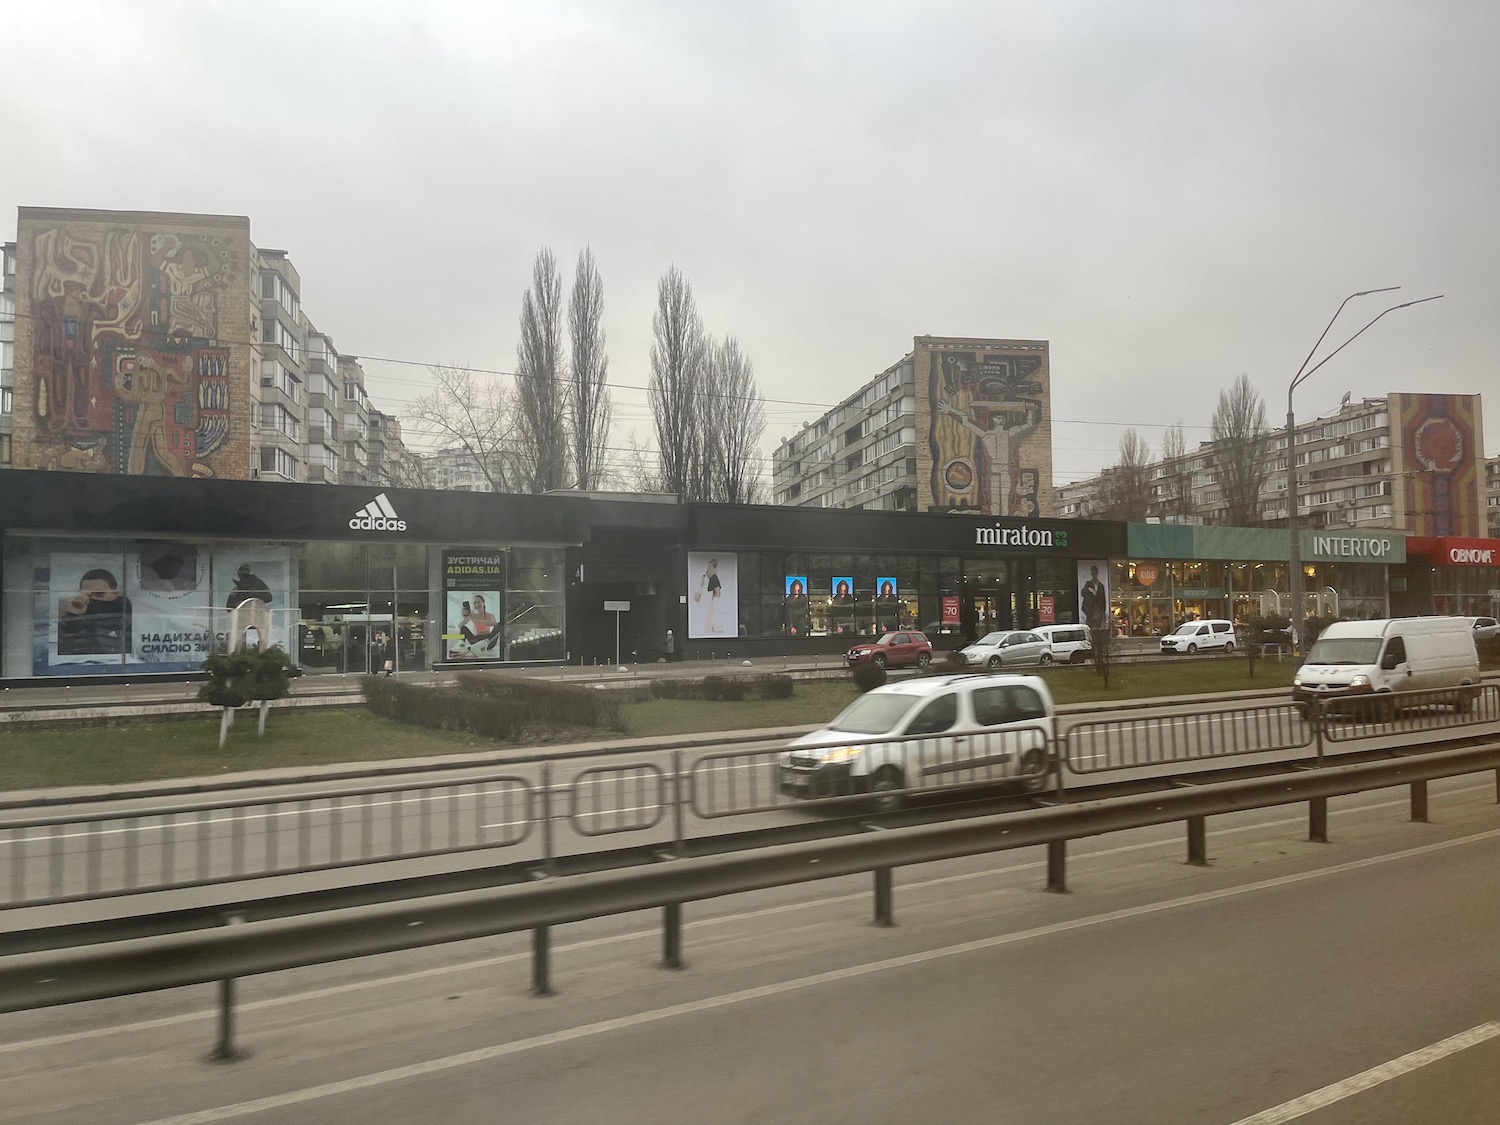
[[[918,336],[771,471],[777,504],[1050,516],[1047,342]]]

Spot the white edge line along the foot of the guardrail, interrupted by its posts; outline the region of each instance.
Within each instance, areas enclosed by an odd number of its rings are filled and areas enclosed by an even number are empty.
[[[1488,784],[1468,784],[1460,789],[1449,789],[1446,795],[1458,796],[1461,794],[1478,794],[1490,792]],[[1400,801],[1376,801],[1374,804],[1359,806],[1358,808],[1342,808],[1329,810],[1330,816],[1344,816],[1348,813],[1371,813],[1382,808],[1396,808],[1406,807],[1406,800]],[[1238,825],[1234,828],[1221,828],[1215,836],[1230,836],[1234,832],[1254,832],[1263,831],[1266,828],[1286,828],[1287,825],[1305,824],[1302,816],[1288,816],[1278,820],[1258,820],[1256,824]],[[1070,856],[1072,862],[1083,862],[1084,860],[1107,860],[1114,855],[1125,855],[1130,852],[1144,852],[1152,848],[1168,848],[1180,846],[1179,837],[1170,837],[1166,840],[1143,840],[1132,844],[1119,844],[1118,848],[1101,848],[1096,852],[1080,852],[1078,855]],[[927,886],[946,886],[951,884],[974,882],[976,879],[994,879],[1002,874],[1017,874],[1020,872],[1035,872],[1046,867],[1046,862],[1030,861],[1023,864],[1006,864],[1005,867],[987,867],[982,872],[964,872],[962,874],[942,874],[934,879],[920,879],[916,882],[902,884],[903,891],[916,891]],[[741,910],[738,914],[722,914],[712,918],[699,918],[696,921],[686,922],[687,930],[706,928],[710,926],[728,926],[732,922],[754,921],[758,918],[770,918],[780,914],[792,914],[794,910],[807,910],[814,906],[837,906],[842,903],[862,902],[870,897],[868,891],[855,891],[852,894],[836,894],[825,898],[814,898],[800,903],[783,903],[780,906],[760,906],[754,910]],[[573,950],[597,950],[604,945],[624,945],[626,942],[634,940],[658,940],[662,936],[660,930],[633,930],[630,933],[616,933],[608,938],[590,938],[582,942],[567,942],[564,945],[555,946],[555,952],[568,952]],[[430,969],[412,969],[411,972],[392,974],[388,976],[372,976],[364,981],[350,981],[346,984],[330,984],[324,988],[312,988],[306,992],[292,993],[288,996],[272,996],[264,1000],[250,1000],[248,1004],[238,1005],[238,1011],[260,1011],[264,1008],[280,1008],[288,1004],[303,1004],[308,1000],[321,1000],[330,996],[342,996],[351,992],[360,992],[363,988],[378,988],[388,987],[392,984],[405,984],[408,981],[422,981],[432,976],[444,976],[454,972],[470,972],[474,969],[490,969],[496,964],[513,964],[516,962],[530,960],[530,952],[507,952],[498,957],[480,957],[472,962],[458,962],[454,964],[438,964]],[[69,1042],[78,1042],[81,1040],[98,1040],[105,1035],[130,1035],[138,1030],[150,1030],[152,1028],[171,1028],[180,1023],[192,1023],[194,1020],[208,1020],[216,1017],[216,1011],[195,1011],[195,1012],[180,1012],[177,1016],[162,1016],[154,1020],[138,1020],[136,1023],[124,1023],[114,1028],[90,1028],[88,1030],[66,1032],[63,1035],[50,1035],[40,1040],[20,1040],[16,1042],[0,1042],[0,1054],[12,1054],[22,1050],[34,1050],[45,1047],[60,1047]]]

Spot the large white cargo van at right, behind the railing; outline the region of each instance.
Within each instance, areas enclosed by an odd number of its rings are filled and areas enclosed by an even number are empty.
[[[1298,702],[1437,692],[1479,682],[1473,628],[1462,618],[1335,621],[1292,680]],[[1455,706],[1462,696],[1455,694]]]

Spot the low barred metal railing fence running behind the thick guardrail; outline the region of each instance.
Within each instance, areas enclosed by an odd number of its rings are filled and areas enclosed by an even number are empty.
[[[44,906],[141,891],[200,886],[274,874],[514,848],[540,836],[540,858],[554,870],[555,830],[584,838],[651,832],[670,813],[670,842],[684,850],[687,819],[723,820],[788,808],[840,810],[963,788],[1012,784],[1036,792],[1056,770],[1101,776],[1134,768],[1288,753],[1378,735],[1500,722],[1500,684],[1402,696],[1389,712],[1364,704],[1320,700],[1311,710],[1274,704],[1226,711],[1101,718],[1076,723],[1048,740],[1035,723],[1008,730],[952,732],[910,740],[850,738],[842,747],[884,754],[886,771],[783,768],[795,747],[716,752],[672,766],[630,760],[628,752],[513,762],[540,766],[540,780],[516,772],[462,782],[309,790],[278,798],[198,801],[132,813],[58,813],[0,824],[0,909]],[[1380,706],[1372,704],[1372,706]],[[1353,710],[1350,710],[1353,708]],[[626,760],[620,760],[626,758]],[[1308,754],[1314,758],[1314,754]],[[554,768],[582,768],[554,784]],[[1060,768],[1059,768],[1060,764]],[[850,784],[860,782],[860,784]],[[806,784],[804,784],[806,783]]]

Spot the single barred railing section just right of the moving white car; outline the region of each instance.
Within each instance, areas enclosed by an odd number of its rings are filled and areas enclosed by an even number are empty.
[[[1062,756],[1071,772],[1098,774],[1209,758],[1305,750],[1312,746],[1314,738],[1314,726],[1300,710],[1292,704],[1272,704],[1074,723],[1065,735],[1066,748]]]

